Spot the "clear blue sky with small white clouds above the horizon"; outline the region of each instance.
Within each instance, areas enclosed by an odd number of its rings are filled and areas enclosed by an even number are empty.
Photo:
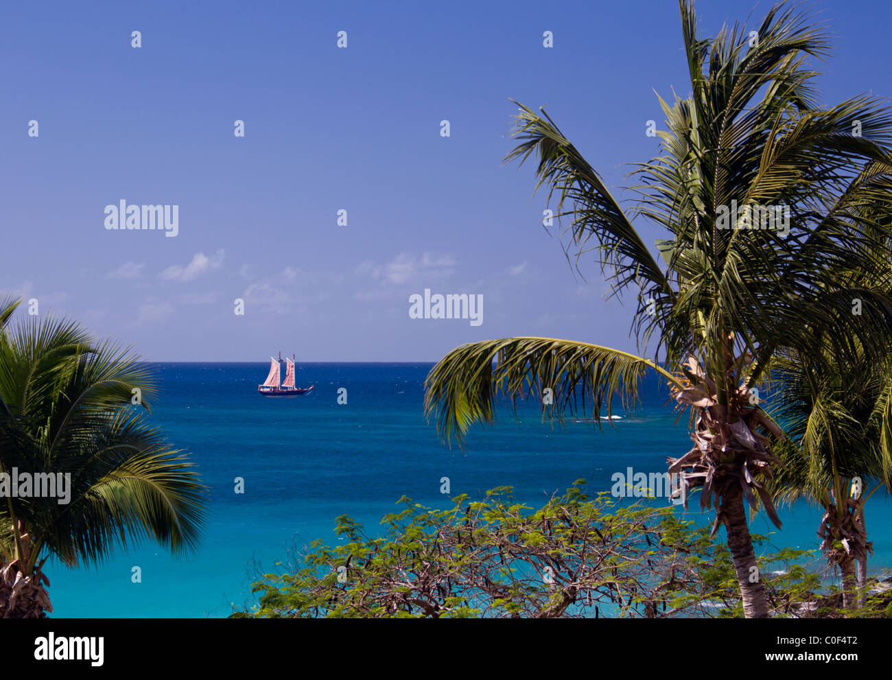
[[[701,30],[768,6],[701,2]],[[811,6],[835,34],[825,100],[892,94],[892,5]],[[624,163],[657,153],[655,91],[690,89],[672,0],[7,3],[0,35],[0,290],[41,314],[155,361],[435,361],[516,335],[634,348],[634,301],[606,302],[591,263],[574,278],[532,165],[501,159],[508,98],[547,105],[622,196]],[[106,230],[121,199],[177,204],[178,236]],[[483,324],[409,319],[425,288],[482,294]]]

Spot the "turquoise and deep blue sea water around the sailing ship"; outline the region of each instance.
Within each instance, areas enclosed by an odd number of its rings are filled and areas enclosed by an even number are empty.
[[[607,491],[615,472],[664,471],[666,456],[690,449],[687,419],[675,425],[656,381],[645,385],[639,411],[603,432],[586,422],[552,429],[533,405],[520,422],[506,411],[495,427],[475,429],[465,451],[450,451],[423,417],[431,364],[304,364],[297,385],[316,389],[285,399],[256,392],[268,363],[153,366],[161,386],[153,423],[191,452],[210,490],[202,546],[187,560],[147,543],[99,568],[48,564],[55,616],[225,617],[250,601],[257,565],[269,570],[295,543],[335,543],[338,515],[375,531],[403,494],[446,507],[441,477],[453,495],[511,485],[519,501],[536,506],[579,477],[590,493]],[[340,387],[345,405],[337,403]],[[244,494],[234,493],[235,477],[244,477]],[[711,520],[695,505],[690,518]],[[817,547],[818,510],[800,503],[781,518],[774,545]],[[892,506],[874,496],[867,519],[871,572],[892,567]],[[774,531],[764,516],[752,530]],[[131,582],[135,566],[139,584]]]

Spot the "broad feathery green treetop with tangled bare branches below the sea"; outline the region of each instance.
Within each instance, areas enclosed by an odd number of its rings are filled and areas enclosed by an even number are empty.
[[[509,487],[481,502],[458,496],[446,510],[403,497],[378,536],[343,516],[343,543],[314,541],[284,573],[263,574],[252,587],[257,604],[233,617],[743,616],[731,554],[708,527],[607,493],[590,500],[583,484],[539,510],[515,502]],[[767,537],[754,541],[761,548]],[[812,554],[760,552],[773,612],[811,615],[803,604],[822,587],[807,567]]]

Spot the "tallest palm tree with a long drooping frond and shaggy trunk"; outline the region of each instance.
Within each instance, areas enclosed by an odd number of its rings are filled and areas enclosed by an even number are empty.
[[[811,356],[815,328],[833,356],[854,347],[882,354],[877,338],[887,335],[892,301],[839,280],[836,265],[871,272],[883,266],[877,253],[888,260],[888,241],[878,243],[862,208],[888,199],[892,119],[866,95],[819,106],[806,62],[826,54],[829,41],[796,8],[772,7],[755,33],[735,24],[708,39],[698,36],[692,4],[680,0],[680,8],[691,94],[660,99],[661,155],[637,166],[632,206],[615,200],[544,110],[518,104],[519,144],[506,158],[538,156],[537,189],[548,187],[558,219],[569,219],[568,257],[578,264],[594,253],[613,294],[637,289],[639,352],[541,337],[467,344],[431,370],[425,413],[442,439],[462,444],[473,424],[494,421],[500,396],[550,388],[549,419],[574,412],[581,394],[582,409],[600,422],[615,398],[624,408],[637,402],[640,378],[656,371],[690,410],[695,444],[670,471],[702,487],[703,508],[715,505],[713,532],[726,529],[746,616],[766,617],[744,499],[755,508],[758,495],[780,526],[764,482],[782,432],[756,390],[780,347]],[[780,225],[747,228],[752,213],[730,216],[735,206],[780,206]],[[662,262],[637,220],[668,236],[657,241]],[[855,297],[863,315],[852,323]]]

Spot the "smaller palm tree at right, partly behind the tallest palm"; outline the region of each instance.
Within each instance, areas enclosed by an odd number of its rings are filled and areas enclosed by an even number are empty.
[[[872,552],[864,505],[892,487],[892,358],[814,364],[790,352],[771,373],[778,390],[769,410],[789,438],[776,446],[781,466],[770,490],[776,501],[822,507],[821,547],[841,572],[843,606],[855,609]]]

